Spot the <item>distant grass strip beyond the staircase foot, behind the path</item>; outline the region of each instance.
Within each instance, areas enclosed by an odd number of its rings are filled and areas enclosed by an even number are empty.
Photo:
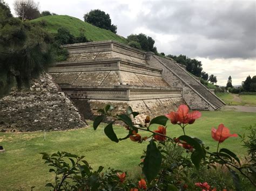
[[[239,95],[230,93],[217,93],[216,95],[227,105],[256,106],[256,95]]]

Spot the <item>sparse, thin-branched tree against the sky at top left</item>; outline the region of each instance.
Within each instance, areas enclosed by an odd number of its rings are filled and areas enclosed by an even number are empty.
[[[40,17],[38,3],[33,0],[16,0],[14,2],[14,10],[16,15],[22,20],[32,20]]]

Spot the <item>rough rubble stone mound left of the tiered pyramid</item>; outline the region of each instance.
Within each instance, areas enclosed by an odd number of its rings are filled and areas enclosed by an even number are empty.
[[[33,80],[29,89],[14,90],[0,100],[0,131],[66,130],[84,126],[78,109],[49,74]]]

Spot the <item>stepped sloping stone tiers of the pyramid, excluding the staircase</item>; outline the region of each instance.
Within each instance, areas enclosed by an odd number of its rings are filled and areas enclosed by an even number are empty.
[[[112,104],[118,113],[130,105],[142,122],[147,115],[164,115],[185,103],[182,88],[171,87],[143,51],[111,40],[63,47],[69,51],[68,61],[56,63],[49,72],[86,119]]]

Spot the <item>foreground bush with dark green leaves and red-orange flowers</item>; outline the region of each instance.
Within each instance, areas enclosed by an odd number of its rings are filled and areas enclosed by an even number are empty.
[[[219,145],[227,138],[237,137],[237,134],[231,134],[224,124],[220,124],[217,130],[212,128],[212,138],[218,144],[216,152],[210,152],[200,139],[186,135],[186,126],[201,117],[199,111],[190,112],[187,105],[180,105],[176,112],[172,111],[165,116],[153,119],[147,116],[144,124],[134,123],[133,118],[139,113],[133,111],[131,107],[128,107],[124,114],[119,115],[112,114],[113,109],[111,105],[100,109],[101,115],[96,117],[93,128],[96,130],[104,118],[109,119],[111,116],[112,121],[104,128],[110,140],[116,143],[125,139],[138,143],[149,142],[140,164],[143,172],[141,177],[145,178],[132,182],[126,179],[126,173],[114,169],[103,173],[103,167],[99,167],[98,171],[92,172],[92,168],[82,160],[83,157],[69,153],[55,153],[51,156],[43,153],[46,163],[56,168],[50,169],[50,172],[56,173],[56,185],[49,183],[47,186],[55,190],[65,189],[68,188],[67,185],[70,186],[67,179],[71,179],[73,181],[71,185],[76,185],[73,187],[79,190],[217,190],[218,185],[191,180],[188,174],[194,169],[199,172],[204,167],[217,169],[217,166],[225,166],[231,173],[236,190],[241,190],[238,172],[255,187],[254,166],[250,162],[241,164],[237,155],[227,148],[219,150]],[[173,125],[180,126],[184,135],[177,138],[167,136],[166,124],[169,120]],[[124,124],[124,130],[127,131],[127,135],[123,138],[118,138],[113,129],[113,124],[118,121]],[[152,130],[152,126],[156,124],[157,130]],[[148,132],[149,136],[141,136],[141,131]],[[76,161],[71,160],[72,157],[75,157]],[[63,158],[69,159],[72,166],[64,162]],[[218,189],[225,190],[226,185],[218,186]]]

